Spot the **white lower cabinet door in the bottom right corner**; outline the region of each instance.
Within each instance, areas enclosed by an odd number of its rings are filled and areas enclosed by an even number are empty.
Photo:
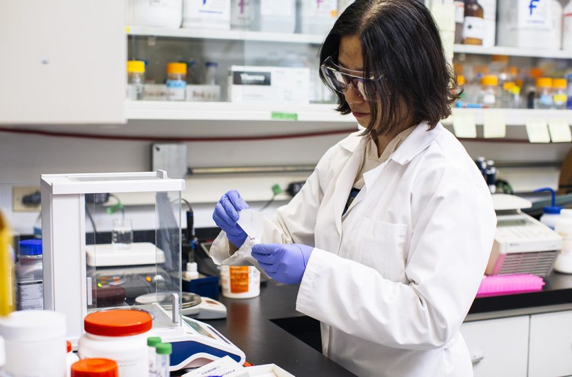
[[[531,316],[529,377],[570,375],[572,375],[572,312]]]

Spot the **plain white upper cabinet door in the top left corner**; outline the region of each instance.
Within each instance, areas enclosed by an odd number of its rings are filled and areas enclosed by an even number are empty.
[[[0,1],[0,123],[125,123],[123,0]]]

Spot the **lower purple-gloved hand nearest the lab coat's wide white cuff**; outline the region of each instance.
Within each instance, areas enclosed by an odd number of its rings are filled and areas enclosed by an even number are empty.
[[[252,247],[252,256],[274,280],[296,284],[302,282],[312,250],[299,243],[258,243]]]

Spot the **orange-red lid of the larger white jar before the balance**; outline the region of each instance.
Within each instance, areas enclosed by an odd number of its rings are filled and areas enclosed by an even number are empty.
[[[147,332],[152,317],[147,312],[130,309],[105,310],[85,316],[85,332],[100,336],[130,336]]]

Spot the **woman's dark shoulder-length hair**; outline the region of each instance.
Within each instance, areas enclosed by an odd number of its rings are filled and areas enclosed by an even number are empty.
[[[361,43],[371,120],[363,134],[392,135],[427,121],[429,130],[451,114],[458,94],[455,74],[445,58],[431,12],[416,0],[356,0],[340,15],[320,48],[320,62],[336,59],[342,37]],[[337,61],[334,61],[337,63]],[[380,74],[379,74],[380,73]],[[322,72],[321,79],[327,83]],[[338,112],[351,112],[345,95],[338,95]],[[376,103],[378,105],[376,105]],[[379,127],[377,125],[380,125]]]

